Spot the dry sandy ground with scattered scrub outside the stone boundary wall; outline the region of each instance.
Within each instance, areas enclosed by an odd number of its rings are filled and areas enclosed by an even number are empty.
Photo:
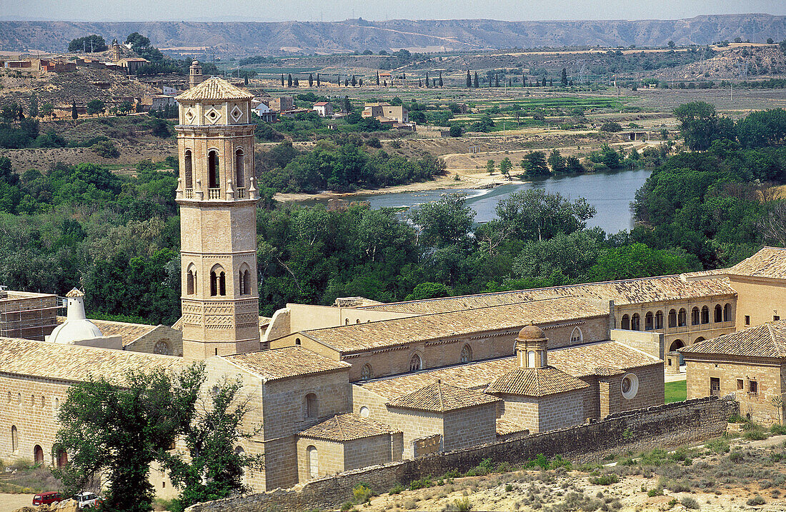
[[[384,493],[357,510],[786,510],[784,438],[732,441],[730,452],[725,452],[727,445],[709,444],[681,457],[673,454],[667,462],[642,462],[634,456],[603,468],[519,470],[443,480],[443,485]],[[612,474],[618,482],[601,485],[594,480]]]

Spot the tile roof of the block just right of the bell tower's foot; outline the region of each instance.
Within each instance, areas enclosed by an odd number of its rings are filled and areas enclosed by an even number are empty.
[[[238,368],[259,375],[266,382],[351,367],[351,364],[329,359],[299,346],[219,357]]]

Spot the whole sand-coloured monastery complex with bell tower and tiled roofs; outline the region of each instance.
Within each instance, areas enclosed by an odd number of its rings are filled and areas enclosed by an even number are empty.
[[[88,320],[76,289],[60,317],[51,294],[2,292],[3,459],[68,460],[52,446],[74,382],[195,360],[204,393],[244,383],[258,432],[236,449],[264,455],[245,477],[257,491],[663,404],[681,361],[689,397],[736,393],[751,418],[783,418],[782,248],[717,271],[259,317],[252,95],[199,78],[178,97],[181,319]],[[160,471],[151,480],[174,495]]]

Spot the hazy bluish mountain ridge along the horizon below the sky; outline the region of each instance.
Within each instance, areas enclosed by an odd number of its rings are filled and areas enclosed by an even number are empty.
[[[540,46],[665,46],[786,38],[786,16],[723,14],[685,20],[344,20],[281,22],[71,22],[0,21],[0,49],[64,51],[73,38],[88,34],[124,40],[131,32],[154,46],[213,47],[216,53],[374,52],[537,48]]]

